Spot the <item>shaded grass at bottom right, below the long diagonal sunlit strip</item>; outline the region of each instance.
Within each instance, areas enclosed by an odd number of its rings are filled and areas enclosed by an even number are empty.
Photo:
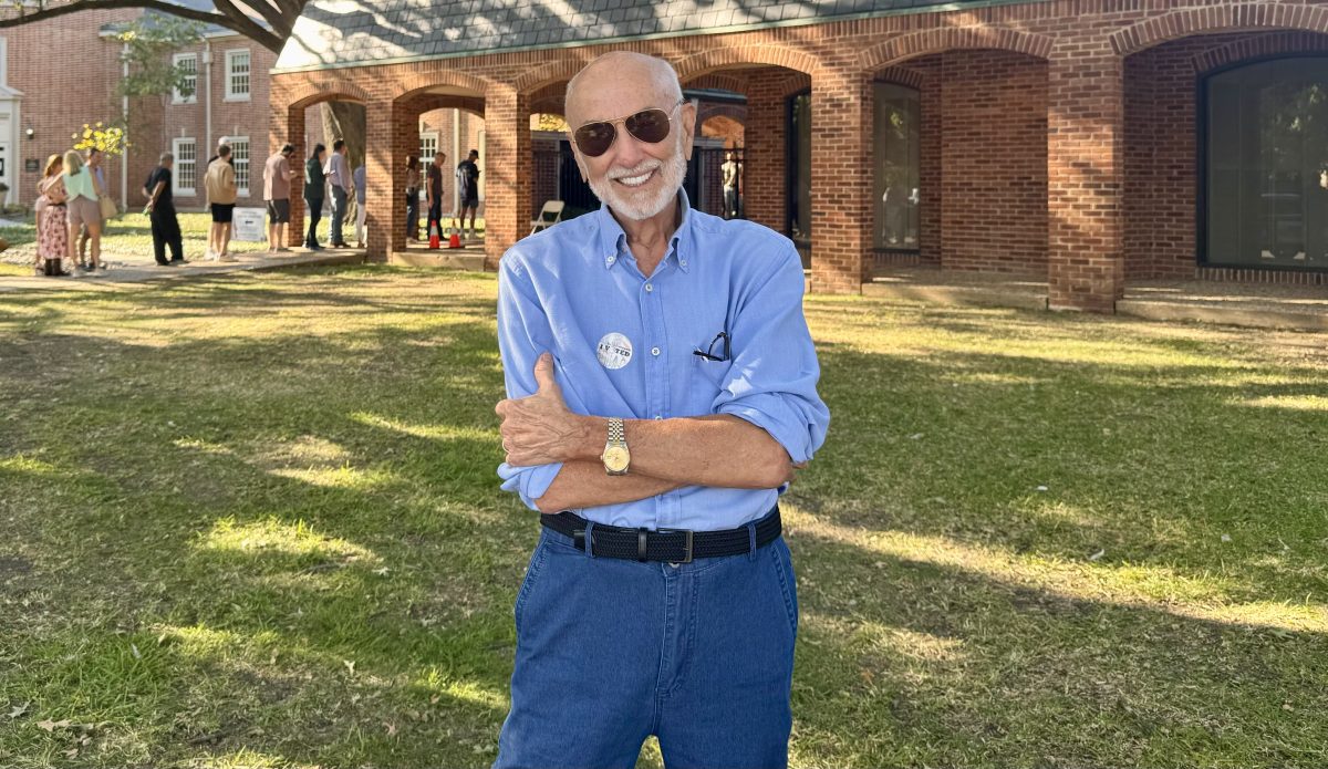
[[[806,766],[1313,766],[1328,635],[789,535]]]

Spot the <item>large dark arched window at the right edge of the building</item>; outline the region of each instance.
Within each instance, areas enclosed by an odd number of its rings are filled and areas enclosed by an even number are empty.
[[[1328,57],[1203,81],[1201,260],[1328,268]]]

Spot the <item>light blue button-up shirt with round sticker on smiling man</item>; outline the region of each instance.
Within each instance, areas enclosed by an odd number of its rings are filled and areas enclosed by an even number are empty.
[[[652,275],[643,275],[607,207],[513,246],[498,278],[498,347],[507,397],[533,394],[535,360],[554,355],[567,408],[667,420],[733,414],[774,437],[794,462],[825,442],[830,412],[802,315],[793,243],[750,222],[691,210]],[[721,331],[726,361],[705,360]],[[716,343],[718,356],[724,343]],[[535,509],[560,464],[501,465],[503,489]],[[610,526],[734,529],[768,513],[780,490],[685,486],[649,499],[578,510]]]

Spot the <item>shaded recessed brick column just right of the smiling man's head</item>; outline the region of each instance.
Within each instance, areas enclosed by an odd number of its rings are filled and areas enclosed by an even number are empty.
[[[785,69],[756,72],[748,78],[748,116],[742,147],[742,210],[752,222],[784,232],[786,106]]]

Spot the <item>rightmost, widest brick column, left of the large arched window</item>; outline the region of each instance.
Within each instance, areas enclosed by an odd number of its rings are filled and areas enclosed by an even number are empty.
[[[1125,80],[1106,41],[1094,48],[1072,41],[1048,62],[1046,280],[1053,308],[1114,312],[1125,291]]]

